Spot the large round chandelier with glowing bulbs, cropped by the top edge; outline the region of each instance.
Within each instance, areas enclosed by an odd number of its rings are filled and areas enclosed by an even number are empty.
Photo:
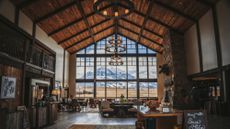
[[[134,10],[132,0],[94,0],[94,11],[108,18],[121,18]]]

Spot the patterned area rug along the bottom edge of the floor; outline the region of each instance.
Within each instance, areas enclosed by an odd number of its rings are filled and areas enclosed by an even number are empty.
[[[135,129],[134,125],[72,125],[68,129]]]

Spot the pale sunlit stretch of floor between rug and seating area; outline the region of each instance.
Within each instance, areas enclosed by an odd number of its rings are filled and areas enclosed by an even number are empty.
[[[103,118],[99,113],[59,113],[54,125],[45,129],[68,129],[73,124],[79,125],[135,125],[136,118]]]

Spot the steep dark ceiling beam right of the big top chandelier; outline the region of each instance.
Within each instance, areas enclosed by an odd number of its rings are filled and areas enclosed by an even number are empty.
[[[141,36],[142,36],[143,30],[144,30],[144,27],[145,27],[145,25],[146,25],[146,23],[148,21],[149,14],[152,12],[152,10],[153,10],[153,0],[150,0],[149,6],[148,6],[148,9],[147,9],[147,13],[146,13],[145,18],[144,18],[144,22],[143,22],[143,24],[141,26],[141,31],[140,31],[140,33],[138,35],[138,39],[137,39],[138,43],[140,43],[140,41],[141,41]]]

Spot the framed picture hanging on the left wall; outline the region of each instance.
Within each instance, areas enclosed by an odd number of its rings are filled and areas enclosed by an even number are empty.
[[[14,77],[1,77],[1,99],[15,98],[16,92],[16,78]]]

